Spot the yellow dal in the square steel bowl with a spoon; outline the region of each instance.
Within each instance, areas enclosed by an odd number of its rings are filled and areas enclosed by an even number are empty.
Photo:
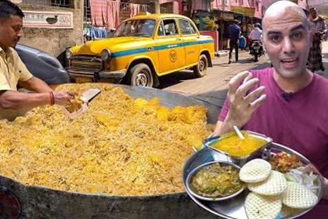
[[[232,156],[245,157],[267,144],[267,141],[251,136],[246,131],[242,131],[242,133],[245,137],[244,140],[239,138],[235,132],[230,132],[221,136],[222,140],[214,142],[210,146]]]

